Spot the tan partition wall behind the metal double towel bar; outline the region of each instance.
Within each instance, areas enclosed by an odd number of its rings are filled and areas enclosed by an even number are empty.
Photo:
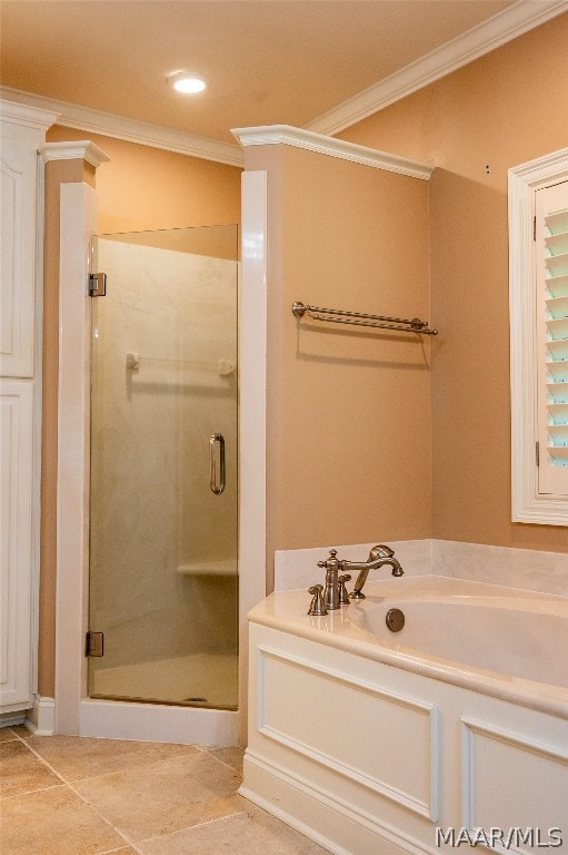
[[[428,340],[291,314],[428,317],[428,184],[288,146],[247,169],[269,174],[269,573],[275,549],[429,537]]]

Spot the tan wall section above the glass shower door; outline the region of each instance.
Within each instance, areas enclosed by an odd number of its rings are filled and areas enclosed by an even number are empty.
[[[111,158],[97,175],[101,234],[240,223],[235,166],[59,126],[47,139],[90,139]]]

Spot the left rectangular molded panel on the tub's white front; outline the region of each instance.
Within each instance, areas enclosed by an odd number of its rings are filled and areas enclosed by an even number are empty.
[[[267,647],[258,679],[263,736],[436,819],[436,706]],[[348,738],[347,723],[363,738]]]

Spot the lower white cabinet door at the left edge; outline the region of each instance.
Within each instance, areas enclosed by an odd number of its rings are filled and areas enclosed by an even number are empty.
[[[31,706],[31,381],[0,381],[0,702]]]

